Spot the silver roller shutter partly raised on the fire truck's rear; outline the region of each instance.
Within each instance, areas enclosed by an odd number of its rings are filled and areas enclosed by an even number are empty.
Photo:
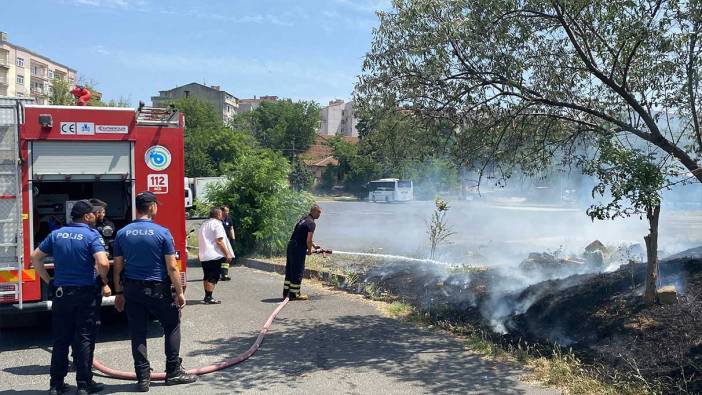
[[[132,179],[131,142],[35,141],[32,143],[33,179]]]

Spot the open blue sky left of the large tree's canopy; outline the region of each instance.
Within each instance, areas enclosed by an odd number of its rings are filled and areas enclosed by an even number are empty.
[[[104,100],[190,82],[238,98],[351,97],[390,0],[0,0],[10,43],[78,70]],[[13,18],[7,16],[13,15]]]

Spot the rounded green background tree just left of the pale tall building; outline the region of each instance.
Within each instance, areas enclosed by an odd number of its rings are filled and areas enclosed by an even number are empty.
[[[282,152],[288,158],[306,150],[319,125],[319,106],[314,102],[278,100],[262,102],[241,114],[233,125],[249,127],[261,146]]]

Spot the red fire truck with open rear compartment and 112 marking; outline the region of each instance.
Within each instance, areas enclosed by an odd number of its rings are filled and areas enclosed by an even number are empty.
[[[183,125],[172,107],[42,106],[0,97],[0,315],[51,309],[31,252],[70,221],[81,199],[105,201],[116,232],[134,219],[137,193],[157,194],[155,221],[173,235],[186,284]],[[52,274],[50,259],[46,266]],[[114,296],[103,298],[111,304]]]

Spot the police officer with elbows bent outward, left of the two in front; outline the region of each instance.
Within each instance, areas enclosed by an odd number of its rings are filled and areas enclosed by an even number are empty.
[[[93,380],[91,350],[95,345],[95,322],[99,319],[97,299],[100,293],[110,294],[110,263],[102,237],[91,228],[95,225],[95,211],[87,200],[76,202],[71,210],[73,222],[51,232],[32,253],[34,268],[53,294],[50,394],[68,390],[64,378],[71,344],[75,347],[77,393],[95,393],[103,388]],[[44,267],[48,255],[54,257],[53,279]]]

